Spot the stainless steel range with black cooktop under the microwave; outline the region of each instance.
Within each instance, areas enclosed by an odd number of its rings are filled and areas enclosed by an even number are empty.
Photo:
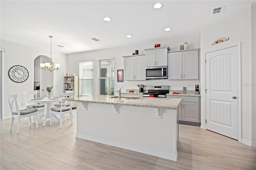
[[[148,93],[143,93],[143,97],[163,97],[166,98],[166,94],[169,93],[168,85],[148,85]]]

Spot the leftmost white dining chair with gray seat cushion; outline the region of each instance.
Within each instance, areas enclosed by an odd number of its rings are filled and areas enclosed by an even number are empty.
[[[27,108],[27,109],[19,110],[16,94],[9,94],[8,101],[9,101],[10,110],[12,112],[12,123],[11,123],[10,131],[12,131],[14,118],[18,119],[17,133],[19,133],[20,132],[20,119],[23,117],[29,117],[28,122],[29,122],[29,126],[31,126],[30,116],[34,116],[34,115],[36,116],[36,128],[38,128],[38,122],[37,122],[38,109],[28,109]]]

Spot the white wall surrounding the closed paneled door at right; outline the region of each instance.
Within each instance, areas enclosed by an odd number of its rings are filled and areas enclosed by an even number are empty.
[[[254,4],[255,5],[255,4]],[[252,134],[255,133],[255,125],[252,126],[252,122],[255,124],[255,120],[252,121],[252,118],[255,118],[255,112],[252,112],[252,105],[255,107],[255,101],[252,100],[252,95],[255,94],[255,90],[252,91],[253,87],[252,82],[255,82],[255,73],[254,79],[252,80],[252,67],[255,67],[255,62],[252,64],[253,57],[252,50],[255,50],[255,46],[252,47],[252,11],[255,14],[255,8],[252,9],[251,6],[243,8],[233,14],[230,14],[216,22],[213,22],[207,26],[201,28],[201,66],[204,65],[204,53],[213,49],[218,49],[221,47],[226,47],[228,45],[241,42],[241,86],[242,86],[242,142],[255,142],[252,140]],[[254,17],[255,18],[255,17]],[[255,28],[254,28],[255,29]],[[229,37],[230,40],[216,45],[211,45],[212,42],[217,40],[220,37]],[[255,38],[254,38],[255,41]],[[254,43],[255,45],[255,43]],[[255,51],[254,51],[255,53]],[[255,69],[254,69],[255,71]],[[201,85],[202,88],[205,88],[205,74],[204,68],[201,67]],[[205,93],[202,93],[202,124],[205,126],[205,117],[204,117],[204,100]],[[255,135],[254,135],[255,136]]]

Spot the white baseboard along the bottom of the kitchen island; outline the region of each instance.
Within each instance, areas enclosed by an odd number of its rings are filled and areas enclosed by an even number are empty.
[[[168,160],[177,161],[177,158],[178,158],[178,152],[177,151],[176,151],[175,155],[172,155],[172,154],[167,154],[167,153],[160,153],[160,152],[157,152],[157,151],[154,151],[154,150],[148,150],[148,149],[145,149],[145,148],[139,148],[139,147],[136,147],[136,146],[130,146],[130,145],[122,144],[122,143],[118,143],[118,142],[113,142],[113,141],[103,140],[103,139],[99,139],[99,138],[94,138],[94,137],[91,137],[91,136],[85,136],[85,135],[82,135],[82,134],[76,134],[76,137],[86,139],[86,140],[91,140],[91,141],[94,141],[94,142],[99,142],[99,143],[102,143],[102,144],[115,146],[115,147],[118,147],[118,148],[133,150],[133,151],[136,151],[136,152],[141,152],[141,153],[144,153],[144,154],[149,154],[149,155],[157,156],[157,157],[160,157],[160,158],[165,158],[165,159],[168,159]]]

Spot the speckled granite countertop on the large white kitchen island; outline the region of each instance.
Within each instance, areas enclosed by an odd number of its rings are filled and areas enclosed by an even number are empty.
[[[128,97],[130,99],[124,98],[121,99],[111,98],[113,96],[106,95],[94,95],[94,96],[80,96],[70,99],[67,101],[78,101],[78,102],[88,102],[88,103],[102,103],[110,105],[125,105],[125,106],[137,106],[137,107],[150,107],[150,108],[159,108],[159,109],[174,109],[178,108],[178,105],[181,99],[172,99],[172,98],[151,98],[151,97]]]

